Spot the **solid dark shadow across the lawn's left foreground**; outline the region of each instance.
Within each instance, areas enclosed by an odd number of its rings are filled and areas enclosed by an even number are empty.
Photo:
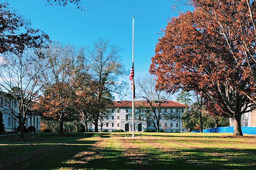
[[[0,159],[0,170],[52,170],[62,165],[62,162],[72,159],[79,152],[87,150],[97,141],[68,141],[62,143],[34,143],[8,146],[10,152],[18,149],[18,154]],[[3,153],[4,154],[4,153]]]

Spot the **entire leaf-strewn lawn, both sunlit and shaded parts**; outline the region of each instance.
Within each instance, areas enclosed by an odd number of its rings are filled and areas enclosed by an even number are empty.
[[[0,170],[256,169],[256,137],[221,137],[227,135],[26,133],[23,141],[0,136]]]

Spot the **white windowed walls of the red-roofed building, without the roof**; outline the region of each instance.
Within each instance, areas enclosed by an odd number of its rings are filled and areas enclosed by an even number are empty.
[[[167,108],[167,112],[169,112],[171,108]],[[176,111],[176,108],[172,110]],[[182,115],[181,109],[180,116]],[[113,130],[124,130],[125,132],[132,132],[132,109],[131,108],[113,108],[110,109],[111,115],[108,116],[106,119],[107,125],[103,125],[102,130],[108,130],[108,132],[112,132]],[[136,111],[135,111],[136,112]],[[113,116],[113,119],[112,119]],[[113,127],[112,127],[113,124]],[[163,117],[160,119],[160,129],[165,130],[165,132],[186,132],[186,129],[182,128],[181,121],[172,121],[172,120],[165,120]],[[98,124],[99,131],[100,131],[100,123]],[[143,132],[143,130],[153,129],[155,128],[151,125],[147,124],[146,118],[135,116],[134,117],[134,126],[135,132]],[[141,127],[141,128],[140,128]],[[92,125],[90,130],[94,131],[95,127]]]

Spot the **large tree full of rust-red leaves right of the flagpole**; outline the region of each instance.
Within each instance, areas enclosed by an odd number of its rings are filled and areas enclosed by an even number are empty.
[[[196,3],[194,7],[193,12],[169,21],[151,58],[150,72],[157,76],[159,89],[173,93],[181,88],[201,94],[234,119],[233,134],[242,136],[241,115],[255,108],[250,99],[255,94],[251,73],[244,69],[248,64],[246,59],[235,59],[225,43],[226,37],[217,31],[218,20],[209,20]],[[236,57],[239,56],[244,54],[238,50]]]

